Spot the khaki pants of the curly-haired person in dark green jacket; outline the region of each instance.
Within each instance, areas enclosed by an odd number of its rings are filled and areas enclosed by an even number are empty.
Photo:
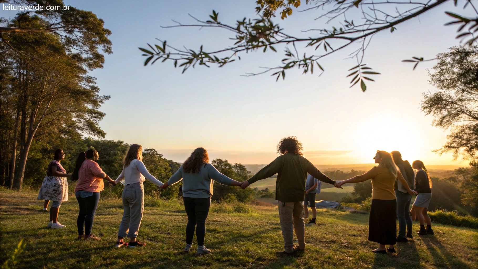
[[[279,201],[279,220],[285,252],[294,252],[294,230],[299,241],[299,248],[305,247],[304,207],[302,201],[282,203]]]

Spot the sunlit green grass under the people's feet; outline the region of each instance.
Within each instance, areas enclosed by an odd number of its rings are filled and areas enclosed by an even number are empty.
[[[26,248],[18,269],[76,268],[443,268],[472,269],[478,264],[478,230],[434,224],[435,236],[415,236],[397,245],[396,255],[375,255],[377,244],[367,240],[368,215],[337,210],[318,210],[317,226],[306,226],[306,253],[302,257],[279,257],[283,240],[277,207],[267,203],[247,210],[213,204],[206,221],[206,247],[212,253],[182,254],[186,214],[180,202],[149,201],[139,231],[142,248],[113,248],[122,215],[117,198],[100,200],[93,233],[101,241],[76,241],[76,199],[63,203],[59,221],[65,229],[47,229],[48,214],[35,193],[0,189],[0,264],[21,238]],[[229,207],[229,208],[227,208]],[[418,231],[414,223],[413,232]],[[196,244],[193,247],[195,250]]]

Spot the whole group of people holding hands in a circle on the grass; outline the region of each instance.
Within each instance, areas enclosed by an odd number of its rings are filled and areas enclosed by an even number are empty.
[[[183,181],[183,200],[186,215],[186,246],[184,252],[190,252],[196,232],[196,255],[210,253],[204,245],[206,235],[206,218],[213,195],[213,181],[229,186],[247,188],[251,183],[277,174],[276,200],[278,200],[279,219],[284,239],[283,255],[298,255],[305,250],[304,213],[308,217],[307,205],[312,208],[313,218],[309,225],[315,224],[315,193],[317,186],[324,183],[342,188],[345,183],[359,183],[371,179],[372,204],[369,218],[369,240],[379,243],[372,250],[375,253],[395,252],[393,246],[397,241],[407,241],[412,237],[412,219],[409,209],[413,194],[417,198],[412,213],[420,221],[419,234],[433,234],[430,217],[426,214],[431,199],[431,181],[423,162],[403,161],[398,151],[377,151],[374,160],[379,165],[363,175],[348,180],[333,181],[320,172],[302,156],[302,144],[296,137],[283,138],[277,145],[280,155],[270,164],[262,168],[253,177],[244,182],[235,181],[220,173],[209,163],[209,156],[204,148],[197,148],[185,160],[181,167],[162,183],[148,172],[142,160],[141,145],[130,146],[123,159],[123,170],[116,180],[112,180],[101,170],[96,160],[98,152],[88,150],[81,152],[76,160],[72,174],[67,174],[60,162],[65,158],[62,150],[55,151],[54,160],[48,165],[46,176],[40,188],[38,199],[45,200],[43,210],[47,210],[48,201],[52,201],[50,222],[48,227],[64,228],[58,220],[58,210],[62,202],[68,200],[68,183],[66,178],[77,180],[75,196],[79,204],[77,218],[78,239],[100,240],[93,235],[92,226],[98,206],[100,192],[104,189],[103,179],[115,185],[124,185],[122,193],[123,217],[118,230],[118,241],[115,247],[142,247],[146,243],[137,240],[143,217],[145,180],[166,189],[170,185]],[[418,170],[416,176],[413,169]],[[309,176],[307,177],[307,174]],[[415,187],[416,186],[416,187]],[[399,234],[396,219],[399,219]],[[425,222],[427,227],[425,229]],[[293,234],[298,239],[298,246],[293,244]],[[124,237],[129,237],[126,243]]]

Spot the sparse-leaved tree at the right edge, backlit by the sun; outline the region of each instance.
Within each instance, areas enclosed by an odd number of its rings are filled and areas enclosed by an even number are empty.
[[[437,55],[429,72],[438,91],[424,93],[421,108],[433,115],[433,124],[451,129],[438,153],[452,152],[455,159],[470,160],[470,168],[455,170],[463,191],[461,202],[478,208],[478,45],[456,46]]]

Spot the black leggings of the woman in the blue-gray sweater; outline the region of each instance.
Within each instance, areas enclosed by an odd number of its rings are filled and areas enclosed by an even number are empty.
[[[197,245],[204,246],[206,236],[206,218],[211,206],[211,198],[183,197],[184,209],[187,214],[186,244],[193,243],[196,228]],[[197,226],[197,227],[196,227]]]

